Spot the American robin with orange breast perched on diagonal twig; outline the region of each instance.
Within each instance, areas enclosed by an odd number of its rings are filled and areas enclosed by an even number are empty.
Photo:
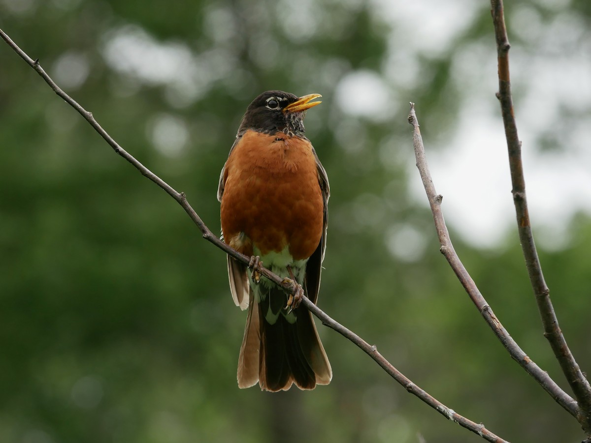
[[[304,114],[320,94],[267,91],[246,109],[220,174],[222,235],[252,257],[254,271],[228,256],[230,291],[248,307],[238,386],[281,391],[327,385],[332,369],[302,293],[316,303],[326,249],[326,171],[304,136]],[[256,273],[257,265],[292,280],[296,297]]]

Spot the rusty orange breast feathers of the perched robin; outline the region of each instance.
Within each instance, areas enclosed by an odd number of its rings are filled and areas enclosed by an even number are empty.
[[[282,132],[242,136],[225,168],[221,218],[228,244],[246,255],[252,244],[263,255],[288,246],[294,260],[308,258],[322,237],[323,207],[309,141]]]

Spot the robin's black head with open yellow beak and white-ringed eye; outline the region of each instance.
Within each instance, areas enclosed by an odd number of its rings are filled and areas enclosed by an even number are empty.
[[[306,110],[322,103],[321,101],[311,101],[317,97],[322,96],[309,94],[297,97],[283,91],[264,92],[252,100],[252,103],[246,108],[238,134],[247,129],[269,134],[278,131],[301,134],[304,132]]]

